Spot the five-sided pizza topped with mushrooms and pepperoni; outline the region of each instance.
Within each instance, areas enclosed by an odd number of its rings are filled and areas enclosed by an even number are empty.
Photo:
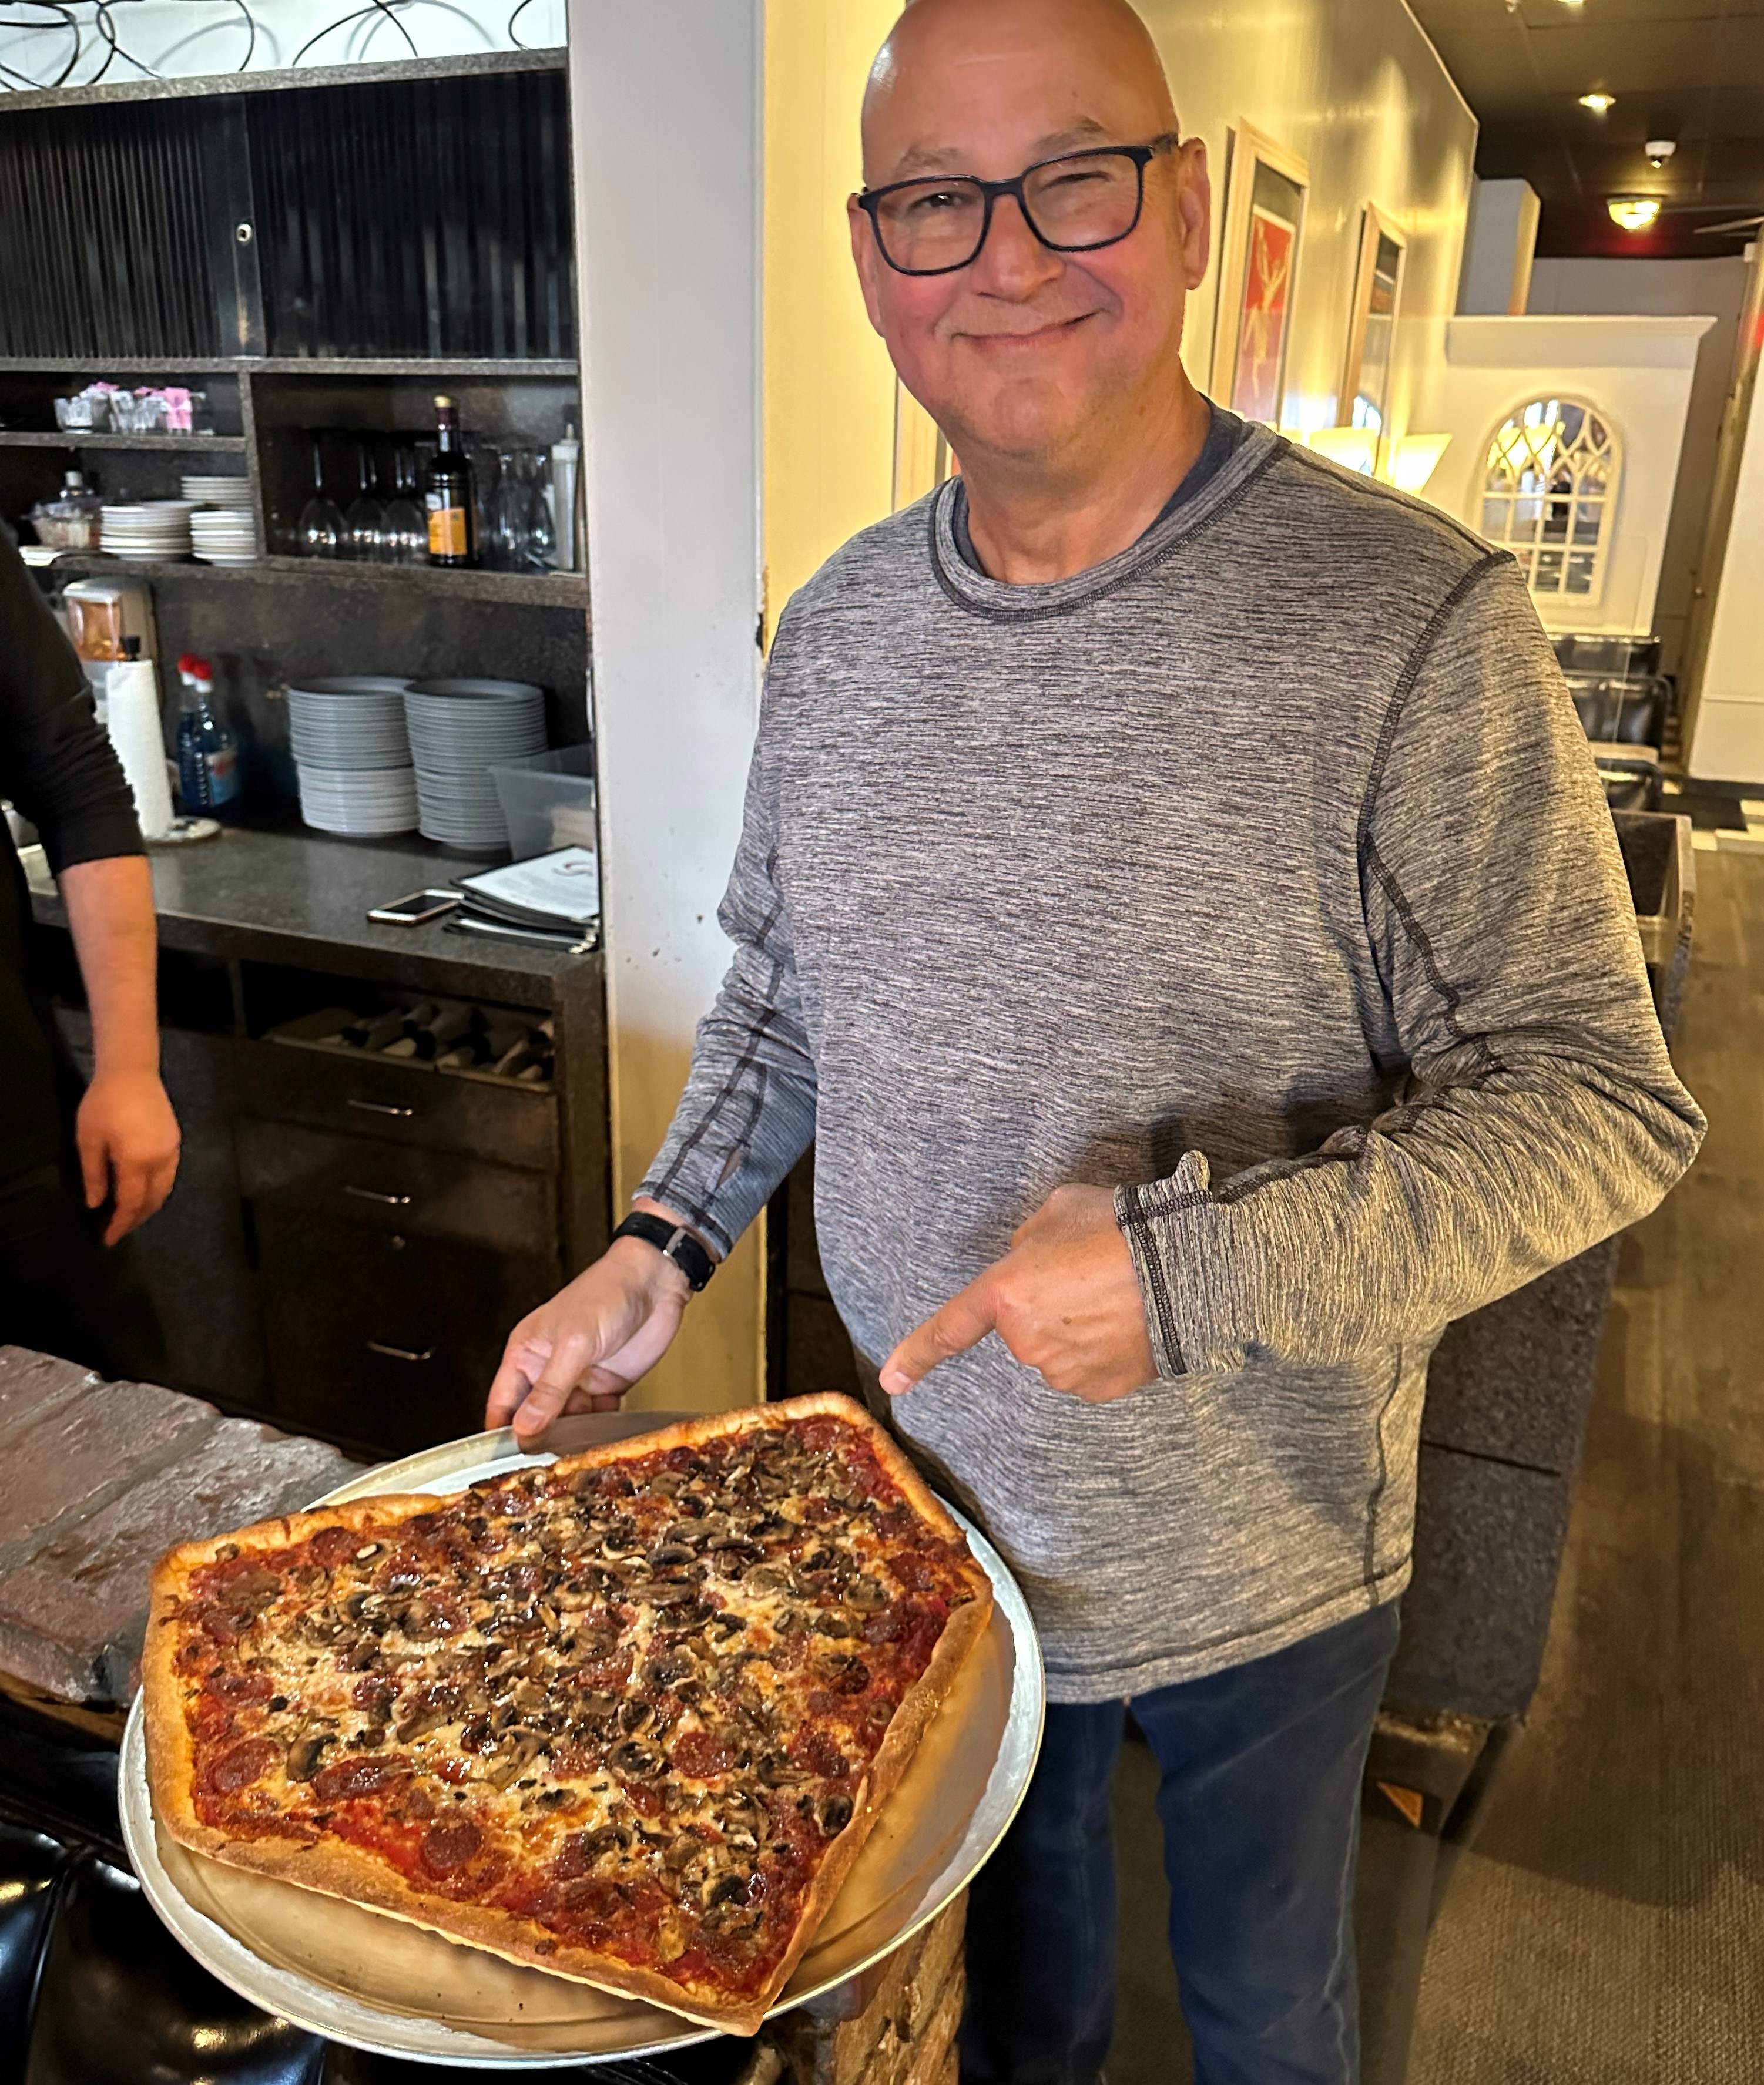
[[[181,1845],[755,2033],[993,1605],[847,1397],[290,1514],[154,1570]]]

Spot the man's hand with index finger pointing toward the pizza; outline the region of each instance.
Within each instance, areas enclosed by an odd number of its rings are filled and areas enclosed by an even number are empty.
[[[1157,1376],[1138,1274],[1105,1186],[1055,1188],[1003,1259],[901,1341],[882,1364],[882,1389],[901,1397],[988,1332],[1049,1389],[1095,1405]]]

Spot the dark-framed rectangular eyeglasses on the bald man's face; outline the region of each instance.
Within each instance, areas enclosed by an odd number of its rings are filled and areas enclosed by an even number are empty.
[[[1015,181],[980,181],[967,173],[888,181],[865,188],[857,202],[876,229],[882,259],[899,275],[953,275],[978,261],[999,196],[1015,196],[1043,246],[1084,254],[1132,231],[1145,206],[1147,163],[1178,142],[1176,131],[1166,131],[1151,144],[1061,152],[1024,167]]]

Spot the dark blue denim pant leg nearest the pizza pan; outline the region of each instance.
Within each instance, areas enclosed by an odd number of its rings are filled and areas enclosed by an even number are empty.
[[[1030,1791],[967,1897],[963,2085],[1093,2085],[1116,2027],[1120,1701],[1053,1703]]]

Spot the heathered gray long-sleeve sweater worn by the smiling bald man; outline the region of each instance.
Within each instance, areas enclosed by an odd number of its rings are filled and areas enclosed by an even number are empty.
[[[965,565],[961,496],[780,623],[646,1193],[728,1243],[815,1138],[882,1362],[1118,1188],[1157,1382],[1088,1405],[988,1336],[895,1405],[1095,1701],[1393,1599],[1441,1328],[1651,1209],[1701,1115],[1505,553],[1266,430],[1051,586]]]

